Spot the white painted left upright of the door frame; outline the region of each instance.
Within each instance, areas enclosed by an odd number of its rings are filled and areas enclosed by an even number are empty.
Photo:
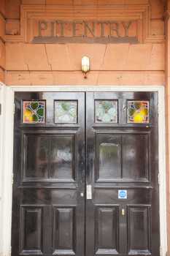
[[[1,255],[11,251],[12,162],[13,162],[13,102],[14,91],[3,86],[2,94],[2,155],[1,155]]]

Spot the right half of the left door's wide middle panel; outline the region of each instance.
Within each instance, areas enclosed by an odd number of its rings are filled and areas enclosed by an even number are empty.
[[[74,179],[72,136],[58,136],[51,140],[51,177]]]

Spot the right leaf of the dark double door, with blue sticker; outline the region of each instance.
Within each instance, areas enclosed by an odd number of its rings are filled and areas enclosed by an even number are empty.
[[[158,95],[86,98],[86,255],[158,256]]]

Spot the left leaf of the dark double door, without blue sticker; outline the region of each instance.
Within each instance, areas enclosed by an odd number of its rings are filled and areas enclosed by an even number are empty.
[[[16,93],[14,148],[12,255],[84,255],[85,94]]]

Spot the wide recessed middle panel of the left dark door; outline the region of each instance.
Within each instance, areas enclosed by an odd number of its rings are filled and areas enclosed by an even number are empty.
[[[23,181],[75,179],[75,137],[33,132],[23,133]]]

